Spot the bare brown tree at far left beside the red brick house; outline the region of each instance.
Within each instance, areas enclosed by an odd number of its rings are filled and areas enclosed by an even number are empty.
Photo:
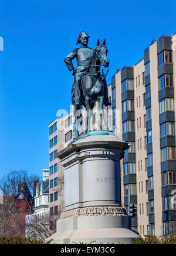
[[[18,235],[20,230],[24,228],[22,225],[25,223],[26,212],[22,213],[19,218],[16,208],[18,208],[20,201],[15,200],[18,194],[18,184],[22,183],[23,176],[25,176],[25,182],[31,194],[33,194],[33,181],[39,180],[38,175],[28,175],[27,171],[20,170],[11,171],[0,179],[0,190],[3,195],[3,200],[0,204],[0,235]],[[25,201],[29,205],[28,213],[32,213],[33,198],[32,200],[25,198]]]

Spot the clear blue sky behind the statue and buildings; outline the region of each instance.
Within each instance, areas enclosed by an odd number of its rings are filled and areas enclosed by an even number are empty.
[[[80,31],[89,46],[106,38],[111,76],[143,58],[152,39],[176,32],[175,0],[0,2],[0,178],[48,168],[48,124],[69,110],[71,72],[63,59]]]

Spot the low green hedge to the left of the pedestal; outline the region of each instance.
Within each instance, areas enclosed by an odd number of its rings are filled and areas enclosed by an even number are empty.
[[[50,241],[38,240],[26,237],[0,237],[0,244],[50,244]]]

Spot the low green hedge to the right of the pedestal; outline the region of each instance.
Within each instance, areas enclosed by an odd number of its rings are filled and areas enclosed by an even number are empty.
[[[144,238],[136,238],[136,240],[134,240],[134,244],[176,244],[176,235],[159,238],[155,235],[145,235]]]

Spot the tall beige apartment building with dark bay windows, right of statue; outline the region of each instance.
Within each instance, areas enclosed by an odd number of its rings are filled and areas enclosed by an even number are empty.
[[[137,204],[132,226],[140,234],[176,234],[175,42],[176,34],[153,41],[109,86],[112,129],[131,145],[121,172],[123,204],[127,211],[129,201]]]

